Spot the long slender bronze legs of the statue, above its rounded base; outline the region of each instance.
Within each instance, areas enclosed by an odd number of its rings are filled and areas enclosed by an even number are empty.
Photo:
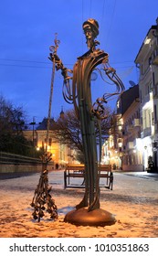
[[[85,195],[76,208],[100,208],[97,146],[94,121],[86,101],[80,101],[79,117],[85,156]]]

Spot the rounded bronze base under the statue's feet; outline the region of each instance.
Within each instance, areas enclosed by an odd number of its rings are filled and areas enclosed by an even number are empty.
[[[116,219],[109,212],[101,208],[88,211],[88,208],[71,210],[64,219],[65,222],[77,226],[110,226],[115,224]]]

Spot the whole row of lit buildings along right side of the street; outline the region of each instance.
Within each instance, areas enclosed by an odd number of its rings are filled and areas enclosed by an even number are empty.
[[[124,91],[117,101],[115,128],[111,126],[106,143],[109,163],[115,159],[126,171],[158,172],[158,18],[156,23],[134,60],[139,85]]]

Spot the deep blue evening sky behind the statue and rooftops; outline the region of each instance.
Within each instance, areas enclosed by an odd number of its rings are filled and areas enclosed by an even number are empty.
[[[52,63],[47,59],[55,33],[58,56],[69,69],[87,51],[82,23],[95,18],[100,48],[109,53],[125,88],[138,82],[134,59],[149,28],[156,24],[157,0],[5,0],[0,7],[0,94],[23,106],[27,121],[47,117]],[[62,97],[62,77],[56,72],[51,116],[72,108]],[[111,91],[91,82],[93,93]],[[100,86],[100,87],[99,87]],[[100,88],[100,89],[99,89]],[[95,97],[95,96],[94,96]],[[113,107],[113,106],[112,106]]]

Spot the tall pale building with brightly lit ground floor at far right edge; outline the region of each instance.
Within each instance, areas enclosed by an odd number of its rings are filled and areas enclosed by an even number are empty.
[[[158,18],[142,42],[135,63],[139,69],[142,159],[144,169],[149,159],[158,171]]]

